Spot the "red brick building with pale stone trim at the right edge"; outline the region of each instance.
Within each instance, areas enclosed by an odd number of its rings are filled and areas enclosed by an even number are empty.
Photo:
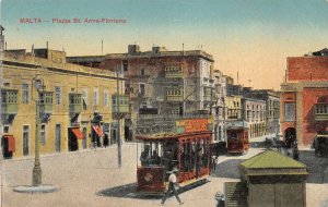
[[[304,56],[286,59],[285,82],[281,84],[281,132],[311,145],[319,131],[328,131],[328,57]]]

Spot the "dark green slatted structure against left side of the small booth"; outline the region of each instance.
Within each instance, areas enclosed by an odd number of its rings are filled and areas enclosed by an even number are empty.
[[[247,207],[247,184],[245,182],[225,182],[225,207]]]

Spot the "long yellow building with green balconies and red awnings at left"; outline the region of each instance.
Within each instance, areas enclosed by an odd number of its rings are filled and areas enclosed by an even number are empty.
[[[128,112],[108,70],[67,63],[66,53],[46,49],[8,50],[1,57],[1,133],[5,157],[34,155],[36,108],[39,109],[40,153],[81,150],[113,144],[119,130],[116,112]],[[42,86],[36,90],[35,83]],[[36,107],[39,102],[39,107]]]

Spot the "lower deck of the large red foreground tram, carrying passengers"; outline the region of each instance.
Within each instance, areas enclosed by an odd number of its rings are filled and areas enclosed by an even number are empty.
[[[136,136],[137,191],[162,194],[173,168],[179,170],[177,181],[181,187],[201,182],[210,174],[211,131]]]

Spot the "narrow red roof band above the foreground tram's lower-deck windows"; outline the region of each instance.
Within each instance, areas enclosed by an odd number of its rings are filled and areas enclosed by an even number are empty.
[[[162,139],[173,139],[180,138],[185,136],[194,136],[194,135],[203,135],[203,134],[212,134],[212,131],[201,131],[201,132],[189,132],[189,133],[159,133],[151,135],[138,135],[136,139],[148,139],[148,141],[162,141]]]

